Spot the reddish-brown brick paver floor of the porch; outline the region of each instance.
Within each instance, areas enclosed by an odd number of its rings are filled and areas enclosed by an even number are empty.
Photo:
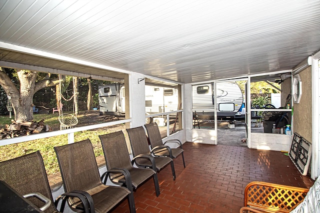
[[[238,213],[249,182],[303,188],[313,184],[281,152],[188,142],[183,144],[183,150],[186,168],[181,156],[174,160],[175,181],[170,166],[158,173],[159,197],[155,196],[153,179],[136,189],[137,213]],[[112,212],[128,213],[127,201]]]

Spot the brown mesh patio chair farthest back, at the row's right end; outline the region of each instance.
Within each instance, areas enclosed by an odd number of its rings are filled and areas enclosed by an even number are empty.
[[[182,144],[179,140],[167,140],[162,144],[161,134],[156,123],[145,124],[146,132],[148,133],[149,142],[151,145],[151,153],[154,156],[167,156],[170,158],[176,158],[181,154],[183,166],[185,168],[184,156]],[[179,148],[170,148],[169,146],[165,146],[166,143],[173,142],[179,144]]]

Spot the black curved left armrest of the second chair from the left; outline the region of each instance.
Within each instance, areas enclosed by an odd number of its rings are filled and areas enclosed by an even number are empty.
[[[74,198],[74,197],[78,198],[83,204],[84,213],[94,213],[94,204],[93,204],[92,197],[89,195],[89,193],[84,191],[79,191],[79,190],[63,193],[62,195],[57,197],[54,201],[55,208],[57,208],[59,201],[62,200],[59,212],[63,212],[66,200],[68,198]]]

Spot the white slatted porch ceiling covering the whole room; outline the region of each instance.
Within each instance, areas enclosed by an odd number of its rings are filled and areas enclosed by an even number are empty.
[[[292,69],[319,48],[319,0],[0,0],[2,62],[194,83]]]

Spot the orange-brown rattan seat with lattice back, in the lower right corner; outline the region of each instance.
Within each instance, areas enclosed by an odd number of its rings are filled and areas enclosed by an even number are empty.
[[[251,182],[244,189],[244,207],[240,213],[289,213],[303,201],[308,191],[298,187]]]

